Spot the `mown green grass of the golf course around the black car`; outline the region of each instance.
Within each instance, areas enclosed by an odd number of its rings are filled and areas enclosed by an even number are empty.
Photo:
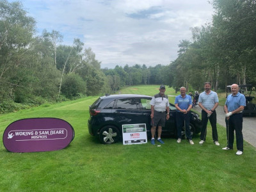
[[[154,95],[158,86],[120,92]],[[171,88],[166,93],[175,95]],[[76,136],[67,148],[52,152],[7,152],[1,141],[0,191],[255,191],[256,150],[245,141],[242,156],[221,150],[227,143],[224,127],[218,125],[220,147],[212,143],[210,126],[202,146],[198,135],[193,146],[185,140],[178,144],[175,138],[163,138],[161,147],[121,141],[102,145],[87,128],[88,106],[96,98],[1,115],[1,135],[15,120],[56,117],[69,122]]]

